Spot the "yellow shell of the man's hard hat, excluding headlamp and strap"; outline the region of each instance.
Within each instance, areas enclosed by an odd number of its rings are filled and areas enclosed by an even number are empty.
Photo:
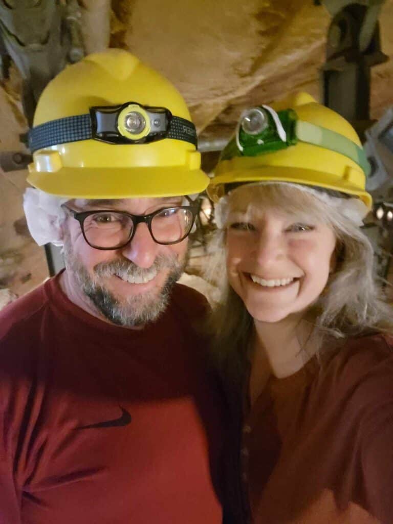
[[[91,54],[65,68],[43,91],[34,126],[89,113],[92,106],[136,102],[190,120],[180,93],[162,75],[120,49]],[[35,151],[28,182],[67,198],[137,198],[199,193],[209,183],[193,144],[81,140]]]

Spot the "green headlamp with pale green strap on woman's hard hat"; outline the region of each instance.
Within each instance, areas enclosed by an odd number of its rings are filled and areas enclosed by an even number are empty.
[[[352,140],[325,127],[299,120],[293,109],[276,112],[267,105],[252,107],[242,113],[235,137],[223,150],[221,160],[266,155],[298,142],[345,155],[356,162],[366,176],[370,173],[364,150]]]

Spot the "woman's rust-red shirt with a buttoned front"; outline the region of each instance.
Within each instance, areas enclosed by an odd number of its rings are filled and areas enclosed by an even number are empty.
[[[358,337],[269,380],[240,453],[255,524],[393,523],[391,343]]]

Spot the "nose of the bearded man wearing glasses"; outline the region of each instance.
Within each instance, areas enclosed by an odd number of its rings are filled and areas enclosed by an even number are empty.
[[[155,242],[147,224],[137,224],[133,239],[121,251],[122,255],[142,268],[149,268],[159,253],[160,245]]]

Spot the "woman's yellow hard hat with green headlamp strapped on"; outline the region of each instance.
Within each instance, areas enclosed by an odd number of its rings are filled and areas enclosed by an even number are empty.
[[[353,127],[309,94],[297,93],[243,112],[208,194],[218,201],[227,184],[292,182],[354,195],[370,208],[369,170]]]

